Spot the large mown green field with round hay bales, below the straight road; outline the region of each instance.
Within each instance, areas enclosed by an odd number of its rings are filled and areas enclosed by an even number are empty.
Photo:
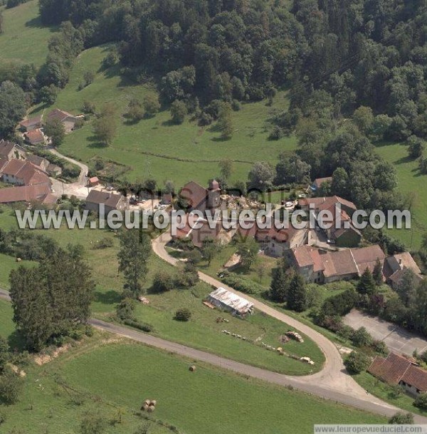
[[[0,301],[0,314],[0,334],[7,337],[13,326],[6,302]],[[58,359],[24,368],[21,400],[1,408],[6,416],[1,432],[74,434],[80,420],[90,413],[104,418],[105,433],[132,434],[147,423],[139,412],[147,398],[157,400],[149,434],[171,432],[159,421],[186,434],[310,434],[314,423],[385,421],[205,364],[197,364],[191,373],[192,363],[97,333]],[[120,415],[122,423],[117,422]]]

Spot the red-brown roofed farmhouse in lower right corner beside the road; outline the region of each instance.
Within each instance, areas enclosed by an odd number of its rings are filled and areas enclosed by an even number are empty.
[[[427,371],[398,354],[390,353],[386,359],[376,356],[368,372],[386,383],[399,384],[412,396],[427,391]]]

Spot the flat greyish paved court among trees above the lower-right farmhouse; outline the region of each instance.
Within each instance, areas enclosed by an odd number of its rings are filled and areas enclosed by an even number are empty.
[[[353,309],[344,318],[344,324],[359,329],[365,327],[374,339],[384,341],[386,346],[398,354],[407,354],[412,356],[416,349],[419,354],[427,350],[427,339],[423,339],[416,334],[408,332],[401,327],[386,322],[378,317],[359,312]]]

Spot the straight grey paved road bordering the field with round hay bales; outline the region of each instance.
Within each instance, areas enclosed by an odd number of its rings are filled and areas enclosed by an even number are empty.
[[[0,298],[10,301],[9,293],[5,290],[0,290]],[[100,319],[90,319],[90,324],[97,329],[104,330],[105,332],[114,333],[119,336],[132,339],[136,342],[141,342],[142,344],[153,346],[165,351],[170,351],[174,354],[185,356],[193,361],[203,361],[207,364],[236,372],[237,374],[251,376],[255,379],[268,381],[268,383],[278,384],[279,386],[292,386],[300,391],[305,391],[307,393],[311,393],[312,395],[320,396],[321,398],[335,401],[337,403],[343,403],[347,406],[359,408],[371,413],[378,413],[380,415],[390,417],[399,411],[399,408],[390,406],[389,404],[380,401],[374,396],[368,395],[365,391],[363,391],[362,388],[361,390],[363,393],[359,396],[358,394],[351,392],[347,393],[346,391],[342,390],[334,390],[332,387],[325,386],[316,379],[317,374],[305,377],[287,376],[278,374],[276,372],[267,371],[265,369],[256,368],[255,366],[242,364],[238,361],[216,356],[215,354],[193,349],[189,346],[177,344],[176,342],[170,342],[134,329],[129,329],[117,324],[101,321]],[[354,384],[358,386],[357,383],[354,382]],[[418,415],[414,416],[416,423],[427,424],[427,418]]]

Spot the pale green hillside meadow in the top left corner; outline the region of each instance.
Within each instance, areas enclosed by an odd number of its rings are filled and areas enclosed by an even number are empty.
[[[41,66],[48,54],[48,39],[56,28],[41,25],[38,1],[31,0],[12,9],[4,9],[3,16],[0,62],[34,63],[37,67]]]

